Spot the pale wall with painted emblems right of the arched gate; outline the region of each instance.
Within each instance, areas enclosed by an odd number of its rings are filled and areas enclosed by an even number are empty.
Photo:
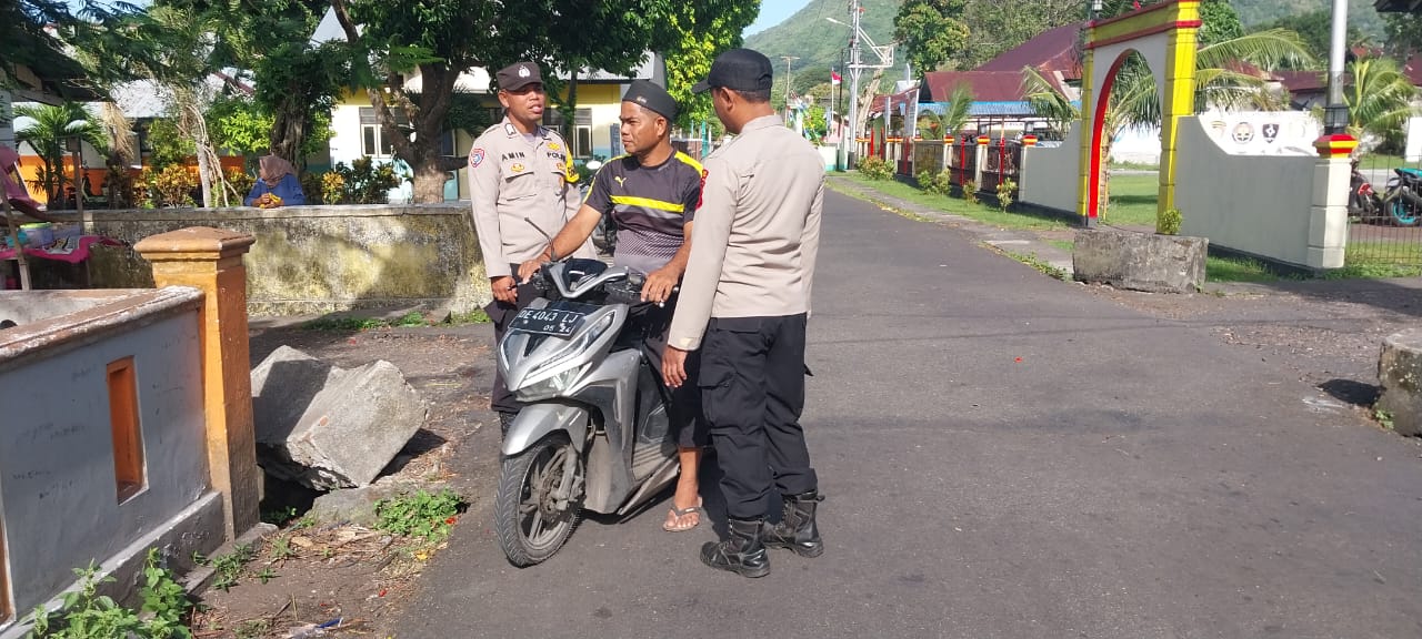
[[[1231,155],[1202,118],[1180,121],[1180,233],[1288,264],[1308,264],[1317,158]]]

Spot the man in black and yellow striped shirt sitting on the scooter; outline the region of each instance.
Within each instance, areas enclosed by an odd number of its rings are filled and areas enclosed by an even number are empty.
[[[667,89],[646,80],[631,82],[623,95],[620,119],[627,155],[613,158],[597,170],[582,210],[553,239],[552,247],[519,267],[519,278],[528,280],[543,261],[587,241],[597,220],[611,216],[617,223],[614,264],[647,274],[641,288],[647,304],[634,307],[629,321],[643,331],[643,352],[653,372],[660,375],[674,307],[671,291],[681,280],[691,253],[687,239],[701,199],[702,173],[695,159],[671,146],[677,102]],[[670,399],[681,479],[663,528],[680,532],[701,521],[697,471],[708,435],[705,422],[700,419],[694,383],[673,390]]]

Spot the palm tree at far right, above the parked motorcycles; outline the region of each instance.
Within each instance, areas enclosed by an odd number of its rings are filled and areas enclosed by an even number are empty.
[[[1395,138],[1406,119],[1418,114],[1412,105],[1416,87],[1392,58],[1354,60],[1348,62],[1348,77],[1344,101],[1354,136]]]

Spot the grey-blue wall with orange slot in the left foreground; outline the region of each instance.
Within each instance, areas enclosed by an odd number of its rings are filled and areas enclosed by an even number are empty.
[[[208,481],[202,294],[85,291],[73,304],[55,295],[0,294],[0,317],[24,317],[0,331],[0,518],[17,615],[68,588],[71,568],[132,567],[165,544],[185,561],[223,540]],[[107,366],[124,358],[137,372],[145,481],[119,503]],[[0,619],[0,636],[18,630]]]

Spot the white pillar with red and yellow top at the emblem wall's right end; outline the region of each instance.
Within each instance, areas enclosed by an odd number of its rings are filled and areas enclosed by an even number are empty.
[[[1348,250],[1348,190],[1352,166],[1349,156],[1358,148],[1351,135],[1324,135],[1314,141],[1318,162],[1314,165],[1314,204],[1308,209],[1310,268],[1342,268]]]

